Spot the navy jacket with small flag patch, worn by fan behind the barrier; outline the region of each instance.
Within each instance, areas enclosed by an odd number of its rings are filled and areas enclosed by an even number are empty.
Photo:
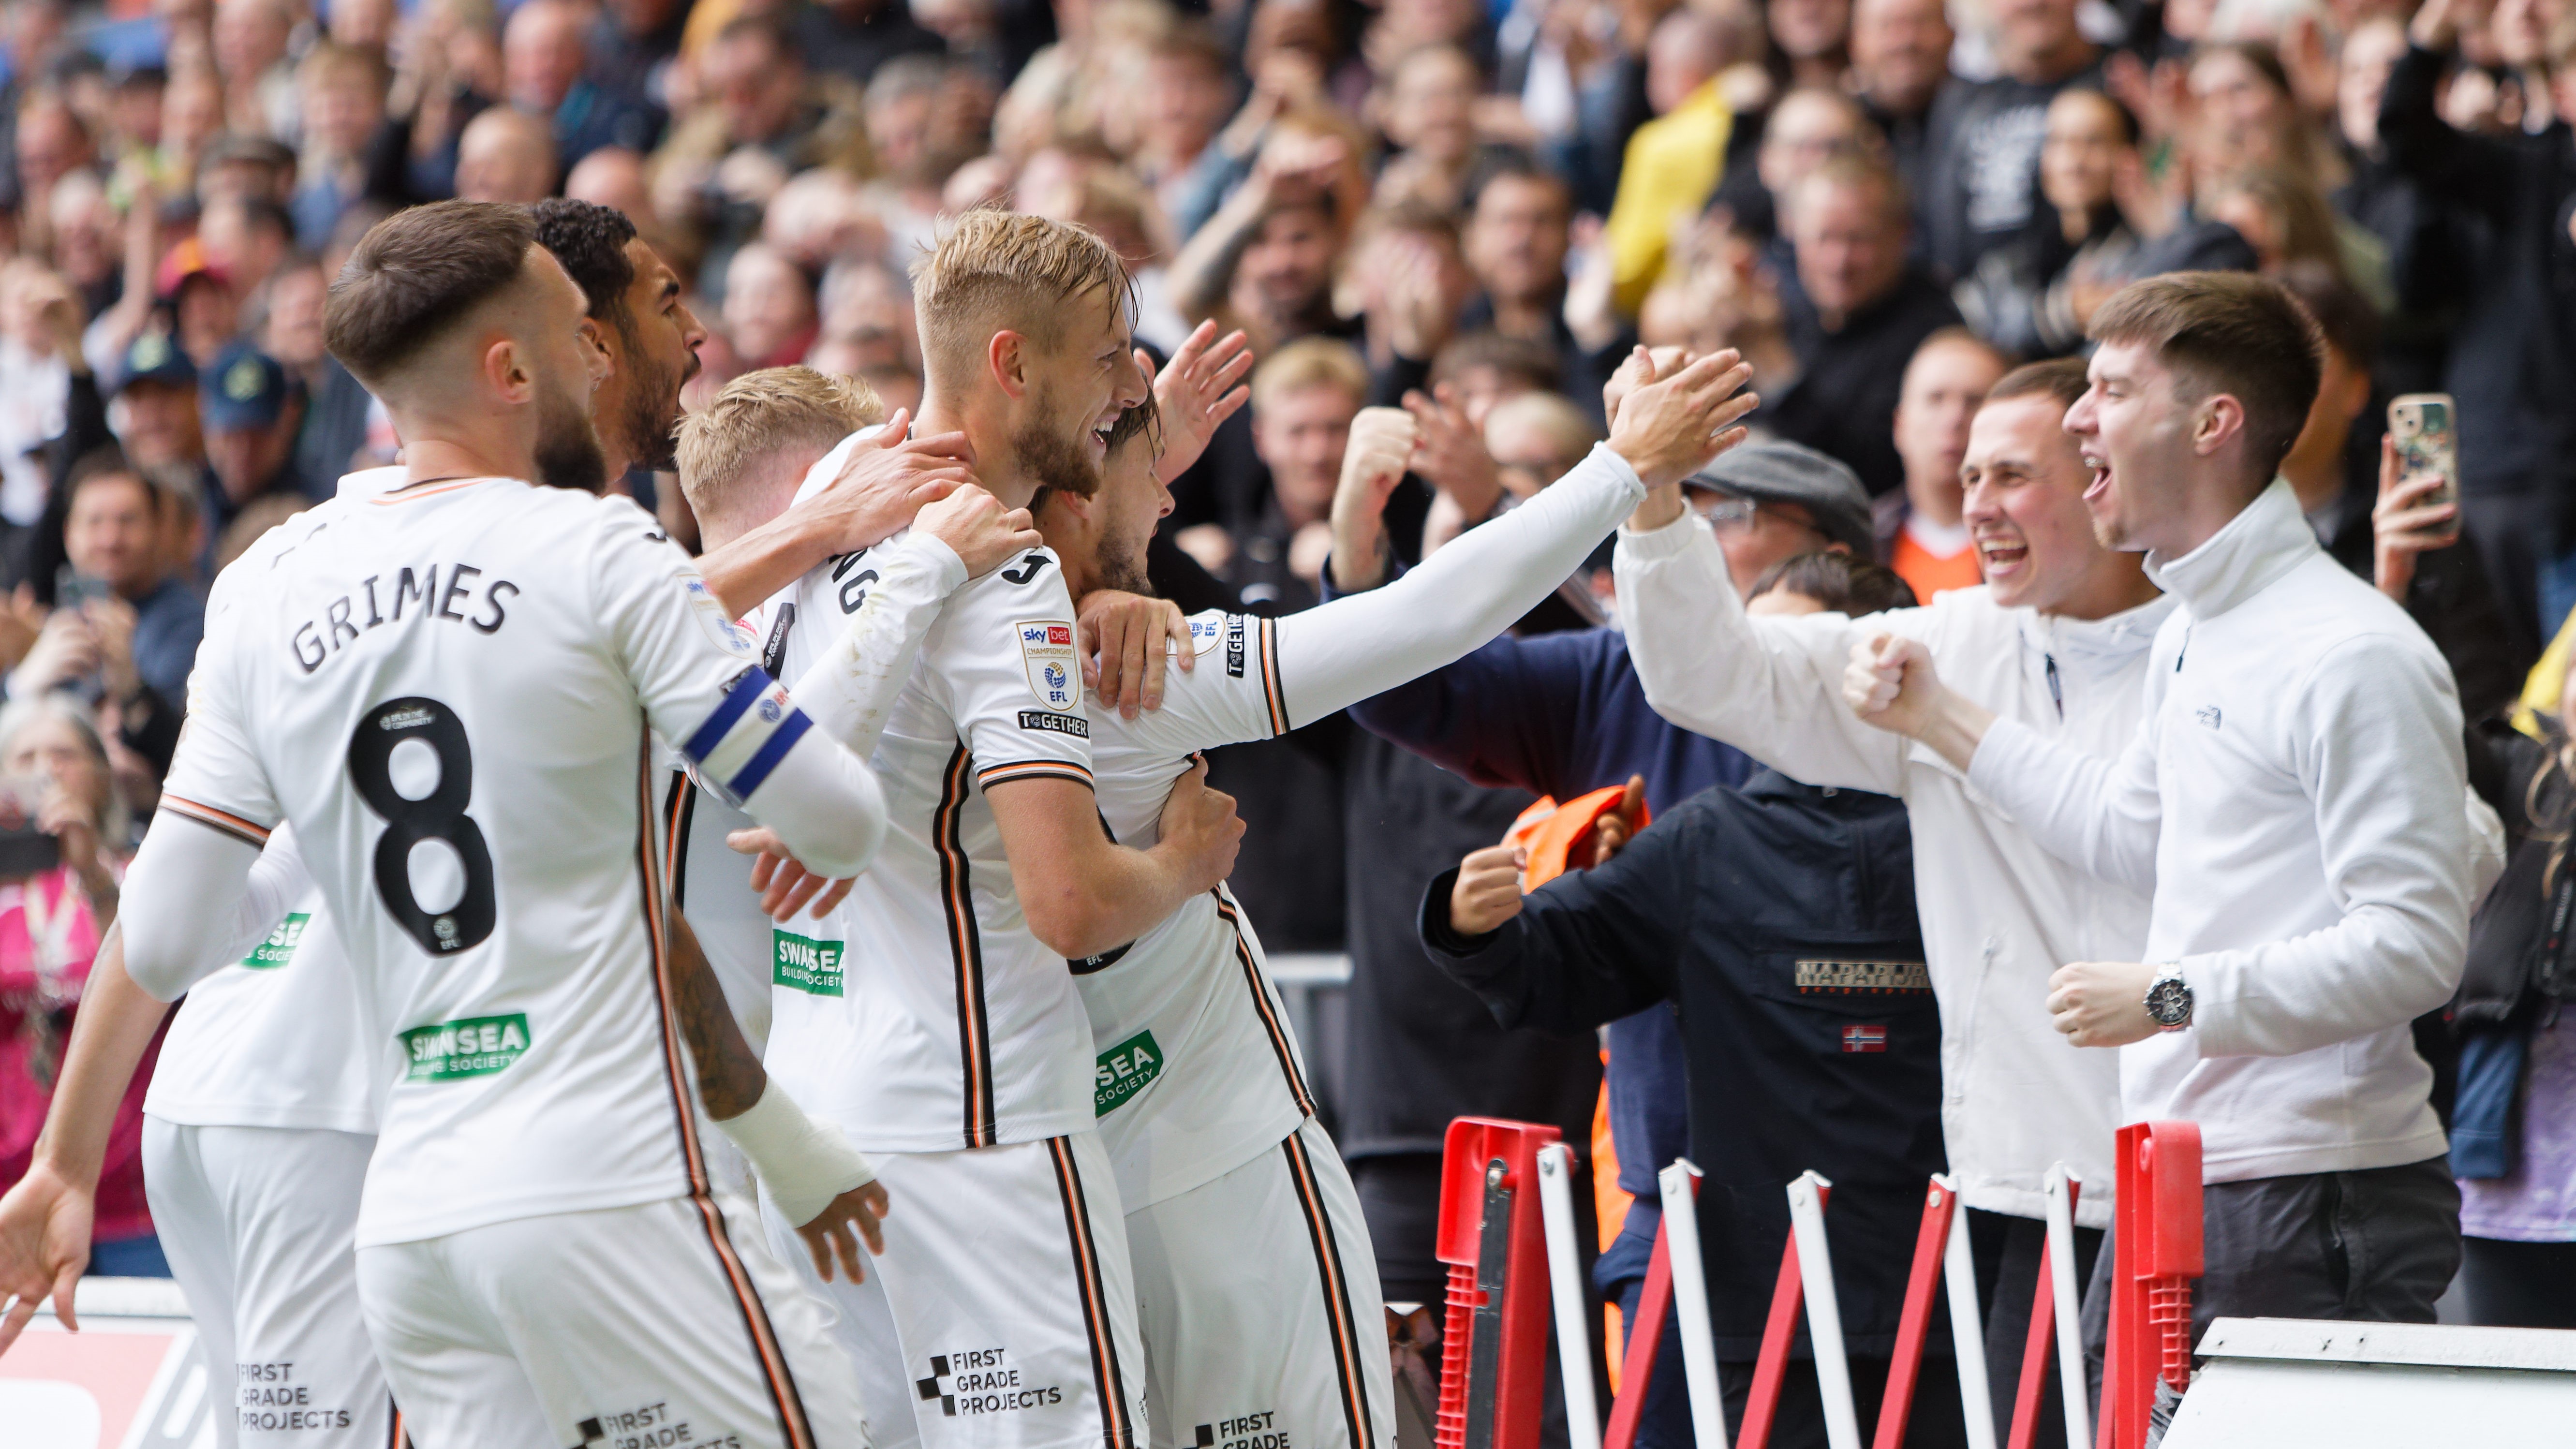
[[[1940,1009],[1904,803],[1765,770],[1530,891],[1481,937],[1450,927],[1455,878],[1430,883],[1422,945],[1499,1024],[1592,1032],[1680,1001],[1718,1356],[1762,1346],[1785,1186],[1806,1168],[1834,1181],[1847,1346],[1891,1351],[1924,1179],[1942,1171]]]

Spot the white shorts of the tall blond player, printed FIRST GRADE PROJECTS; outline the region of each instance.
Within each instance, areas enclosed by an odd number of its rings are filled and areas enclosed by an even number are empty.
[[[822,1282],[773,1204],[770,1243],[837,1310],[876,1449],[1141,1449],[1144,1351],[1118,1181],[1097,1132],[876,1153],[886,1253]],[[912,1436],[904,1431],[912,1428]]]

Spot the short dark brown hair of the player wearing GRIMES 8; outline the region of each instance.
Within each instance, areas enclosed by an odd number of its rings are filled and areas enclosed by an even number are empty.
[[[330,283],[322,340],[368,389],[507,291],[536,219],[500,201],[433,201],[379,221]]]

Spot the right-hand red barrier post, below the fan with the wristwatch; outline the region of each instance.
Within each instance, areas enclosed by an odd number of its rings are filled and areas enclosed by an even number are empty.
[[[2120,1127],[2112,1204],[2110,1343],[2099,1449],[2146,1449],[2156,1382],[2192,1382],[2192,1279],[2200,1277],[2200,1125]]]

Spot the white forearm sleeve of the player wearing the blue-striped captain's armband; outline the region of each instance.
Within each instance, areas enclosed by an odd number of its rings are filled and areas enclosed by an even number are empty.
[[[796,674],[796,703],[850,754],[868,759],[886,715],[912,677],[930,623],[958,587],[966,561],[927,533],[904,533],[889,543],[853,553],[832,597],[840,602],[840,633],[814,664]],[[793,605],[778,605],[793,607]],[[829,628],[824,620],[783,620],[773,628]]]

